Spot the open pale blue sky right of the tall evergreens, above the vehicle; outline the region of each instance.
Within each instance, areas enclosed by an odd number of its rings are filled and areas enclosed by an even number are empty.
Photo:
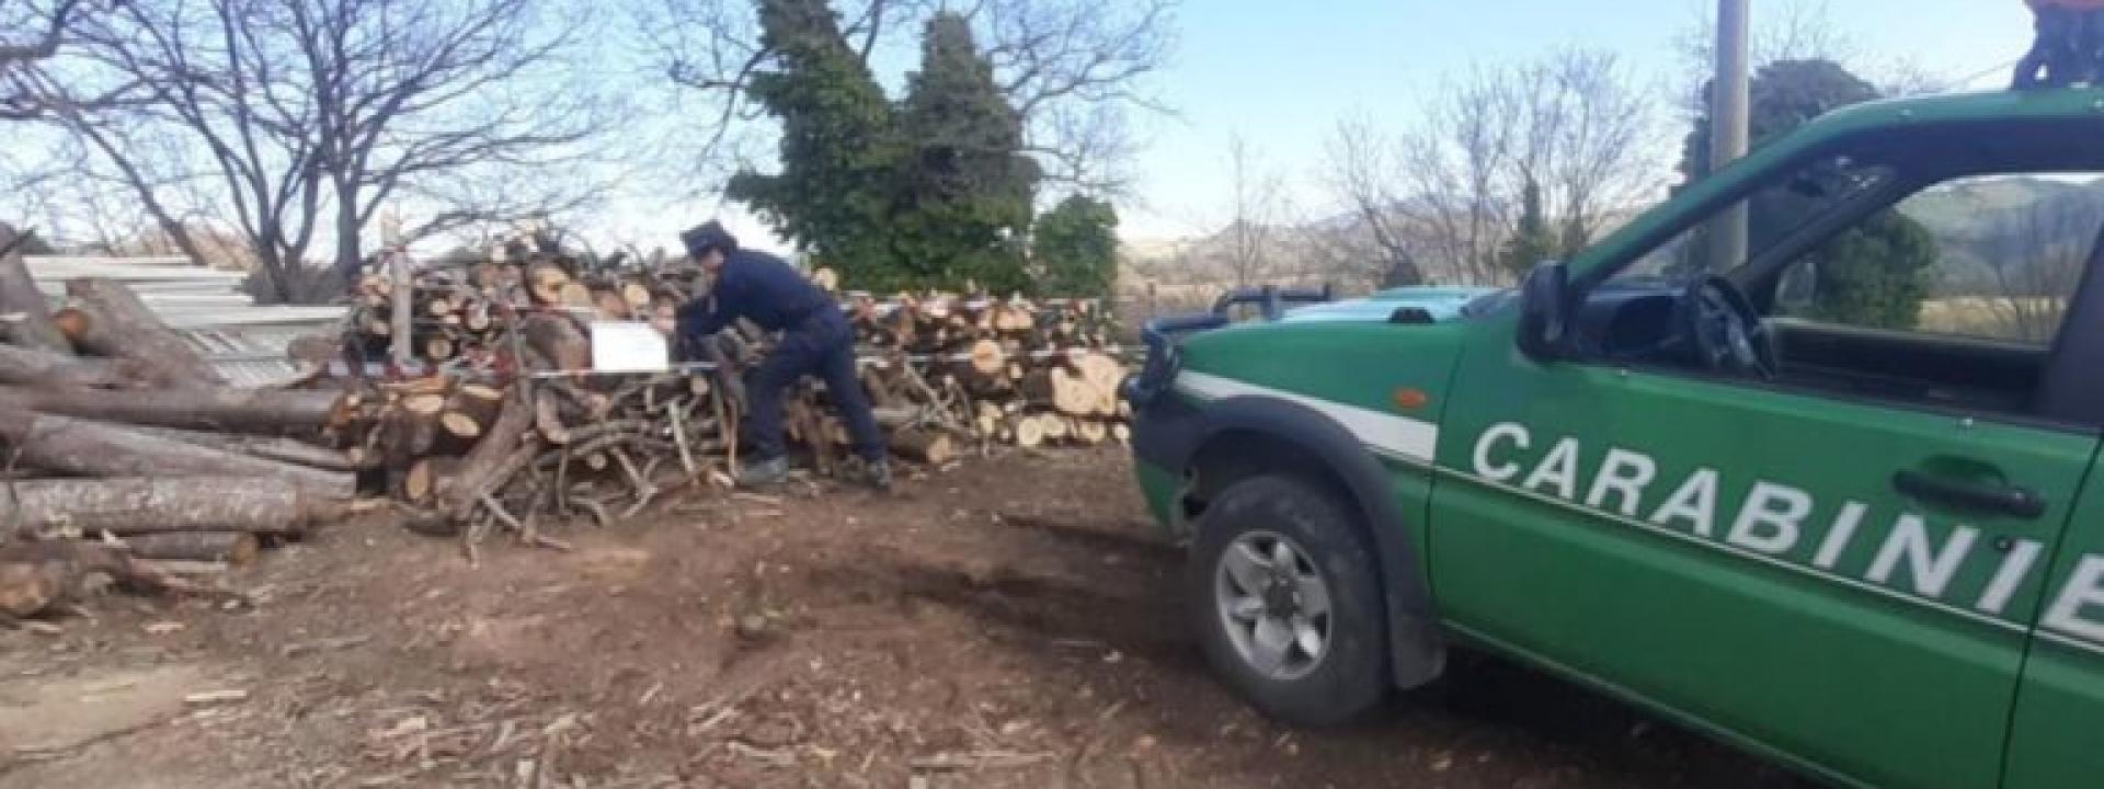
[[[2030,44],[2022,0],[1753,0],[1755,29],[1820,8],[1866,69],[1910,61],[1990,88]],[[1227,145],[1241,135],[1300,210],[1321,210],[1323,141],[1340,118],[1403,128],[1443,74],[1563,46],[1603,48],[1664,90],[1679,42],[1713,0],[1189,0],[1182,42],[1155,93],[1176,116],[1138,126],[1128,236],[1187,236],[1227,215]]]

